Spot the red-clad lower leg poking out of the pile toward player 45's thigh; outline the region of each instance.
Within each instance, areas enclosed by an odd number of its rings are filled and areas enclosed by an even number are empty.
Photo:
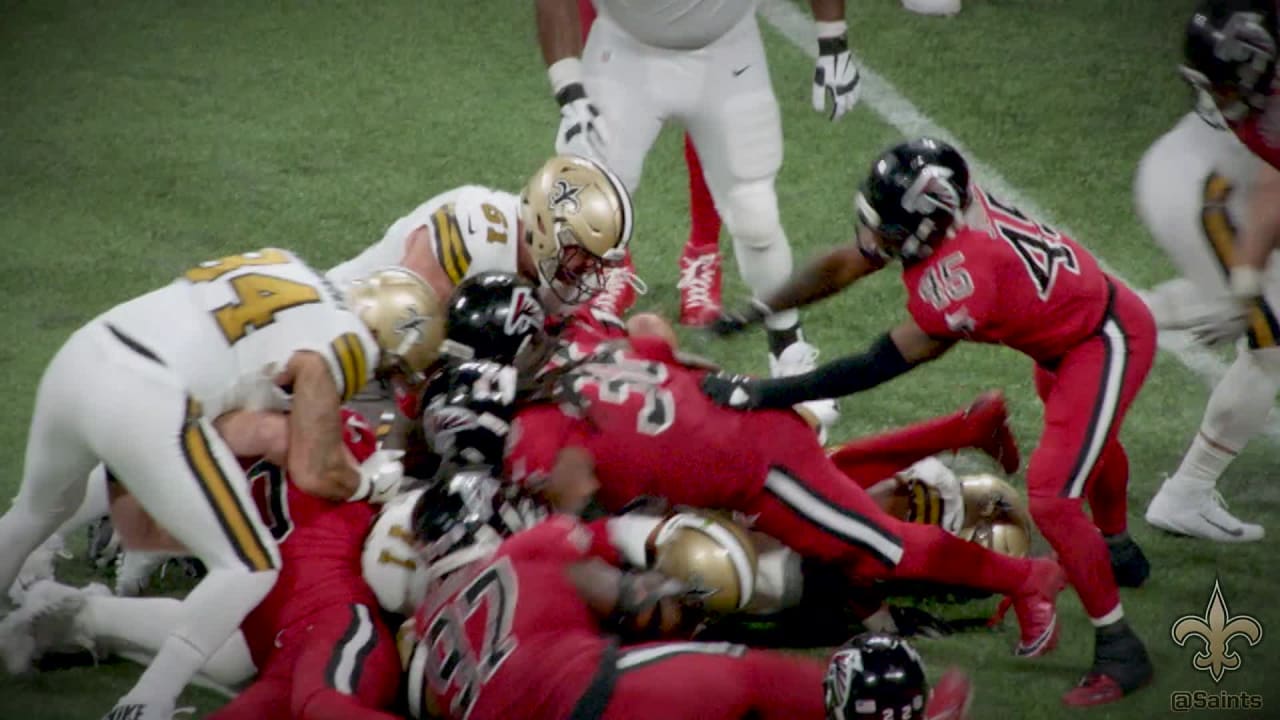
[[[869,487],[914,462],[975,442],[965,411],[915,423],[877,436],[858,438],[831,454],[837,468],[863,487]]]

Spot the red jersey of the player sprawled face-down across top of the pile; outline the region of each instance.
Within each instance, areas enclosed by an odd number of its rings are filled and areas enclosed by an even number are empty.
[[[580,347],[576,336],[570,338],[571,348]],[[576,360],[585,354],[573,351]],[[699,387],[705,374],[680,364],[657,337],[596,347],[568,372],[577,402],[538,404],[516,414],[507,477],[536,488],[561,448],[581,447],[600,478],[595,497],[611,511],[640,496],[719,507],[726,492],[763,484],[777,456],[776,446],[750,438],[795,432],[813,442],[813,430],[791,410],[740,413],[716,405]]]

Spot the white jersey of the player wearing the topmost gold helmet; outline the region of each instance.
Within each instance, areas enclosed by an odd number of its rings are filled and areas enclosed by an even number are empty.
[[[453,284],[477,273],[516,272],[520,197],[467,184],[428,200],[392,223],[376,245],[326,274],[338,286],[374,270],[399,265],[408,236],[431,228],[435,259]]]

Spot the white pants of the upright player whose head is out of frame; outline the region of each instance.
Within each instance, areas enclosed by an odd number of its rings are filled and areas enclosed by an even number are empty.
[[[707,186],[742,279],[767,296],[791,275],[791,246],[773,181],[782,167],[782,115],[755,14],[700,50],[640,42],[600,14],[582,50],[584,85],[609,128],[603,159],[628,190],[663,124],[678,122],[694,140]],[[768,327],[795,325],[795,311]]]

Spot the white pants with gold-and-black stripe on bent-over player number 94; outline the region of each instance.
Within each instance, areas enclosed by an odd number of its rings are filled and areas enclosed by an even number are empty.
[[[132,343],[132,345],[131,345]],[[209,575],[131,698],[177,698],[275,582],[280,559],[234,455],[177,374],[102,320],[77,331],[36,392],[22,488],[0,518],[0,587],[81,507],[102,461]]]

